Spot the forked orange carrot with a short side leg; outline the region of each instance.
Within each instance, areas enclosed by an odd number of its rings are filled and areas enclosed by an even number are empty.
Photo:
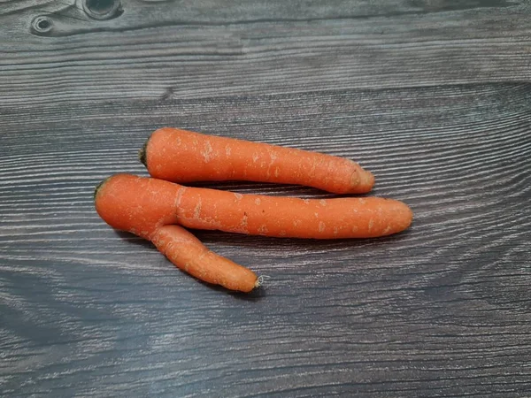
[[[409,207],[390,199],[240,195],[129,174],[104,180],[95,204],[107,224],[152,241],[181,270],[242,292],[258,286],[254,272],[212,253],[181,226],[333,239],[389,235],[412,222]]]

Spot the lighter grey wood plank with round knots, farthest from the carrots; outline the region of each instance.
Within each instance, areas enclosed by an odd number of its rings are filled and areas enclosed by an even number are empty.
[[[132,1],[119,18],[107,21],[62,5],[65,11],[50,16],[54,27],[48,36],[30,32],[31,20],[46,8],[0,17],[3,103],[530,78],[528,2],[224,4]]]

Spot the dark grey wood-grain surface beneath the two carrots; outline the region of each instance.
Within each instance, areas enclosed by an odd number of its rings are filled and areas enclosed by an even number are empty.
[[[0,1],[0,396],[531,396],[529,2],[122,5]],[[208,287],[93,208],[160,126],[356,159],[414,224],[198,232],[269,277]]]

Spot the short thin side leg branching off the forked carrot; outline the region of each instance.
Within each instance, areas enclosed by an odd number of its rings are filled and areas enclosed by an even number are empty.
[[[258,287],[254,272],[213,253],[181,226],[160,226],[152,242],[178,268],[204,282],[245,293]]]

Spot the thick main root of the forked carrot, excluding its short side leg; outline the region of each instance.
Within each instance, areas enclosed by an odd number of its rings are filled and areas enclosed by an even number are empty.
[[[412,222],[412,210],[392,199],[241,195],[129,174],[104,182],[96,193],[96,210],[110,226],[149,240],[160,226],[169,224],[264,236],[340,239],[390,235]]]

